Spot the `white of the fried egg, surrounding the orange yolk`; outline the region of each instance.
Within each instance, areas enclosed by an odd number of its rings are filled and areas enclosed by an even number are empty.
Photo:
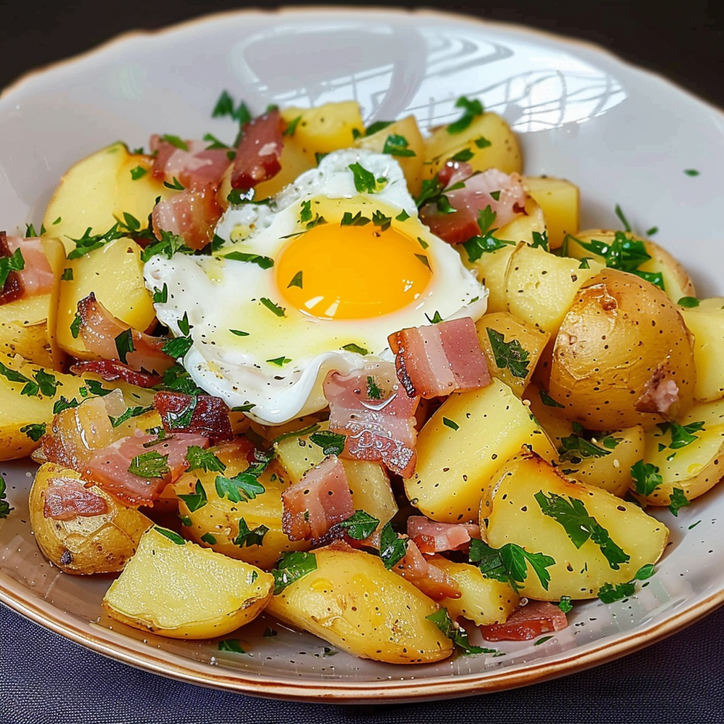
[[[355,162],[382,180],[374,193],[355,189],[350,169]],[[314,219],[340,224],[345,211],[367,218],[382,214],[395,230],[419,240],[432,277],[413,303],[369,319],[318,319],[285,303],[273,266],[224,258],[241,252],[276,260]],[[429,324],[435,315],[477,319],[485,311],[484,287],[458,253],[419,222],[400,166],[387,154],[330,153],[269,206],[230,207],[216,234],[229,243],[214,256],[151,258],[146,285],[149,290],[166,285],[167,301],[155,304],[156,314],[174,334],[182,334],[179,323],[188,319],[193,346],[183,364],[194,382],[231,407],[251,405],[248,415],[262,424],[282,424],[324,408],[321,384],[327,373],[347,374],[366,358],[392,359],[389,334]],[[345,345],[353,346],[345,350]]]

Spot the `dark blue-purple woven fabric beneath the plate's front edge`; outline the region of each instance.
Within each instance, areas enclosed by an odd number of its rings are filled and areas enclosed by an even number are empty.
[[[106,659],[0,606],[0,724],[724,722],[724,609],[597,668],[447,702],[353,706],[256,699]]]

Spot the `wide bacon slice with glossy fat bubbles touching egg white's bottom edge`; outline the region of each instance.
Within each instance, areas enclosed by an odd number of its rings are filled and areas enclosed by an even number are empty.
[[[405,394],[392,363],[380,362],[348,375],[330,372],[324,397],[329,402],[329,429],[347,436],[345,458],[374,460],[404,477],[412,475],[419,398]]]

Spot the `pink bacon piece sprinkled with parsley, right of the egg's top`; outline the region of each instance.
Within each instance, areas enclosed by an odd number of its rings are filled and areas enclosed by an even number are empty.
[[[480,235],[479,213],[490,207],[495,212],[493,228],[500,229],[518,214],[525,213],[526,190],[518,174],[505,174],[498,169],[487,169],[465,177],[471,167],[458,164],[450,171],[438,175],[449,180],[449,186],[462,183],[462,188],[445,191],[454,211],[440,211],[435,203],[427,203],[420,209],[420,218],[430,230],[450,244],[459,244]],[[445,169],[444,169],[445,170]],[[497,197],[497,198],[496,198]]]

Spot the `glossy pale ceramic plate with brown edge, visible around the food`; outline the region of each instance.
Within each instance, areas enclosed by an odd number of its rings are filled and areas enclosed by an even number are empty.
[[[127,35],[30,75],[0,98],[0,219],[38,223],[60,174],[114,140],[152,132],[229,135],[211,119],[221,90],[251,109],[355,98],[366,121],[416,114],[429,127],[456,117],[455,98],[482,98],[521,135],[526,172],[581,187],[584,227],[636,230],[685,261],[699,295],[724,293],[712,269],[720,241],[718,185],[724,115],[658,77],[591,46],[432,12],[380,9],[240,12],[164,33]],[[696,169],[698,175],[687,173]],[[696,210],[692,211],[693,209]],[[173,641],[101,615],[110,579],[59,573],[28,525],[33,467],[2,466],[15,510],[0,520],[0,599],[29,618],[118,660],[185,681],[287,699],[419,700],[523,686],[650,644],[724,602],[724,487],[680,511],[657,573],[613,605],[576,605],[571,625],[542,645],[501,644],[417,667],[334,654],[323,641],[264,618],[238,636],[247,654],[214,641]],[[540,641],[539,641],[540,643]]]

